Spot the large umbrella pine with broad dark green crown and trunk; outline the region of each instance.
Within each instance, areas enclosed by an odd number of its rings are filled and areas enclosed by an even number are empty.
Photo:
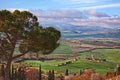
[[[0,58],[6,61],[5,80],[13,60],[28,52],[49,54],[59,46],[61,33],[53,27],[42,28],[28,11],[0,11]],[[14,55],[17,48],[20,54]]]

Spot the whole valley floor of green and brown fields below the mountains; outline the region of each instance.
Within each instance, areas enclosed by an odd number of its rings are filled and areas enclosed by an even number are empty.
[[[41,64],[44,71],[55,70],[64,73],[66,69],[79,72],[86,68],[95,69],[99,73],[114,71],[120,64],[120,41],[113,39],[68,39],[62,40],[61,45],[49,55],[28,54],[21,63],[28,63],[32,67]],[[30,56],[31,55],[31,56]],[[66,62],[70,61],[70,64]]]

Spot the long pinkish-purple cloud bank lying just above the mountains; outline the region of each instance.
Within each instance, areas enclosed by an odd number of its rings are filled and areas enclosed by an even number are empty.
[[[15,9],[10,9],[15,10]],[[28,9],[19,9],[28,10]],[[76,26],[120,27],[120,16],[109,16],[96,10],[28,10],[36,15],[40,23],[67,23]]]

